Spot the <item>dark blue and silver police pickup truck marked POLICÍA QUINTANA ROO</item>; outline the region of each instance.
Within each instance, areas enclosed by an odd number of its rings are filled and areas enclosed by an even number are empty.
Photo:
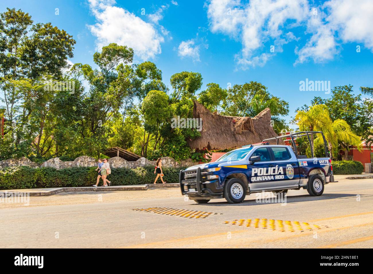
[[[324,141],[325,157],[314,157],[311,135]],[[311,158],[298,155],[295,139],[307,136]],[[289,145],[279,145],[287,138]],[[269,142],[277,141],[277,145]],[[272,191],[286,195],[289,189],[307,189],[311,196],[320,196],[324,185],[334,182],[326,140],[322,132],[308,131],[265,139],[227,152],[213,163],[181,170],[179,182],[182,195],[197,203],[225,198],[229,203],[244,201],[246,194]]]

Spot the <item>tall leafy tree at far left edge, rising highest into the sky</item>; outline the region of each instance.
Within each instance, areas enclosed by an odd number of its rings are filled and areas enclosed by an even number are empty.
[[[31,16],[21,10],[7,9],[0,19],[0,86],[12,125],[6,139],[15,155],[42,157],[50,151],[53,135],[47,137],[44,130],[53,128],[47,123],[60,116],[55,109],[64,96],[45,90],[43,81],[62,80],[75,40],[50,23],[32,25]]]

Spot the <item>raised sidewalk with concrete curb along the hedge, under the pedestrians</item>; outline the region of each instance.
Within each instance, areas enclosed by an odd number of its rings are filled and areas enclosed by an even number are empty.
[[[0,195],[19,195],[19,196],[51,196],[61,192],[85,192],[85,191],[125,191],[125,190],[148,190],[156,188],[179,188],[178,183],[169,184],[146,184],[129,186],[85,186],[76,188],[32,188],[32,189],[9,189],[1,190]]]

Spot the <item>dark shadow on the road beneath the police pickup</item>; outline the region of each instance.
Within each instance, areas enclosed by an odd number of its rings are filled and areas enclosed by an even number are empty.
[[[286,203],[297,203],[297,202],[308,202],[308,201],[320,201],[320,200],[329,200],[329,199],[356,199],[357,195],[359,194],[343,194],[343,193],[326,193],[322,196],[309,196],[309,195],[296,195],[296,196],[287,196],[286,195],[286,201],[283,200]],[[372,197],[373,195],[368,194],[361,194],[360,197]],[[268,201],[269,200],[269,201]],[[244,200],[241,204],[229,204],[227,201],[224,202],[214,202],[214,200],[211,200],[207,204],[192,204],[192,205],[206,205],[209,207],[225,207],[225,206],[247,206],[247,205],[270,205],[270,204],[281,204],[280,199],[278,199],[277,202],[273,202],[273,197],[271,199],[266,199],[268,202],[263,202],[263,199],[261,196],[259,196],[257,199],[249,199]],[[272,202],[271,202],[272,201]]]

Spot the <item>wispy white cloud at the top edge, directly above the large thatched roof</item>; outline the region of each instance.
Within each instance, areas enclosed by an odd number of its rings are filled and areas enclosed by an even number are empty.
[[[241,53],[236,54],[237,63],[246,69],[263,66],[282,46],[296,40],[292,32],[283,33],[283,26],[291,20],[299,25],[308,15],[307,0],[252,0],[242,4],[239,0],[212,0],[207,16],[212,32],[228,34],[241,40]],[[275,53],[261,53],[264,42],[272,40]],[[269,48],[267,49],[269,52]]]

